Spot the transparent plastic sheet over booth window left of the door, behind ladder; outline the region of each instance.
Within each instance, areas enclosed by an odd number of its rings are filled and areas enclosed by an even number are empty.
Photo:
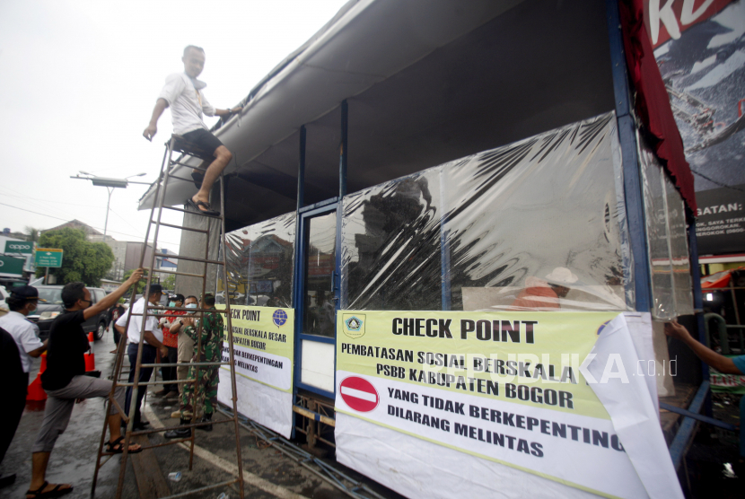
[[[292,307],[295,214],[283,214],[225,234],[232,305]],[[224,302],[222,279],[218,302]]]

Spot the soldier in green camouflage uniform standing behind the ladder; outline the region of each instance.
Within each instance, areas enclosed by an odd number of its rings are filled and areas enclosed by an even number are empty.
[[[206,294],[200,304],[203,309],[215,308],[215,296]],[[202,321],[202,355],[197,359],[197,335],[198,324],[193,318],[183,319],[183,332],[194,340],[194,357],[191,362],[220,362],[223,352],[223,334],[224,323],[223,315],[216,312],[206,312]],[[194,407],[204,407],[204,416],[202,422],[212,421],[212,415],[215,414],[217,406],[217,383],[220,382],[218,372],[219,365],[196,366],[188,368],[188,379],[193,379],[197,375],[196,383],[187,383],[184,385],[183,396],[180,400],[181,425],[188,425],[191,420],[185,417],[185,413],[193,414]],[[196,399],[195,399],[196,390]],[[197,426],[200,430],[212,431],[212,425]],[[184,438],[191,435],[189,429],[172,430],[165,433],[166,438]]]

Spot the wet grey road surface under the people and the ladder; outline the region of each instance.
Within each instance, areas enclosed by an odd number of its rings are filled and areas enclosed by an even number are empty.
[[[110,350],[114,348],[110,332],[102,340],[97,341],[94,346],[96,354],[96,369],[108,377],[113,365],[114,355]],[[39,360],[34,363],[34,370],[30,379],[33,380],[39,370]],[[158,428],[161,425],[178,425],[178,419],[171,419],[171,412],[178,409],[176,398],[157,398],[152,395],[153,391],[160,390],[155,385],[151,387],[147,396],[147,407],[144,418],[149,420],[151,427]],[[3,475],[15,473],[16,482],[13,486],[0,489],[0,497],[25,497],[24,493],[31,481],[31,445],[36,439],[44,417],[44,402],[28,403],[23,413],[21,424],[15,433],[13,443],[0,465]],[[55,450],[52,451],[49,460],[47,479],[50,483],[70,483],[74,486],[74,492],[65,495],[68,498],[90,497],[93,471],[95,468],[96,453],[101,439],[103,425],[104,400],[93,398],[76,404],[70,424],[65,433],[57,440]],[[224,415],[216,415],[215,419]],[[152,444],[166,442],[162,433],[148,435]],[[107,435],[108,440],[108,435]],[[234,425],[224,423],[215,425],[213,432],[197,432],[197,449],[193,461],[193,468],[188,470],[189,452],[186,444],[169,445],[144,451],[136,455],[145,456],[150,452],[153,458],[145,459],[145,471],[139,471],[138,477],[132,466],[132,460],[127,460],[127,471],[122,489],[122,497],[140,497],[137,479],[160,483],[168,487],[170,494],[179,494],[187,490],[202,486],[209,486],[220,482],[231,480],[236,472]],[[246,497],[312,497],[312,498],[337,498],[346,496],[327,481],[320,479],[311,471],[303,468],[294,460],[286,458],[275,447],[267,447],[267,443],[258,440],[249,431],[241,427],[241,454],[245,480]],[[120,469],[119,456],[115,456],[102,468],[96,487],[96,497],[114,497],[116,494],[118,474]],[[153,464],[154,463],[154,464]],[[138,469],[142,469],[140,466]],[[168,478],[169,473],[179,472],[181,479],[178,482]],[[361,478],[354,472],[344,469],[355,479]],[[376,484],[378,492],[386,496],[398,496],[394,493],[386,494],[385,489]],[[141,484],[142,486],[142,484]],[[162,490],[162,489],[160,489]],[[232,497],[238,497],[237,489],[230,486],[211,489],[206,492],[189,495],[197,498],[216,498],[221,493]],[[144,495],[147,496],[147,495]],[[155,496],[155,495],[151,495]],[[162,494],[159,494],[162,496]]]

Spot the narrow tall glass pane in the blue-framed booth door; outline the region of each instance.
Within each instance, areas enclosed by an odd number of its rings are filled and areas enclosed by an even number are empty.
[[[336,302],[334,269],[337,258],[337,213],[308,220],[308,246],[305,252],[305,301],[302,332],[308,335],[334,337]]]

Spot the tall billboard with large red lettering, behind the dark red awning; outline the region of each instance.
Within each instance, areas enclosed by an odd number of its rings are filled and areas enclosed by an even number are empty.
[[[645,0],[644,14],[694,174],[697,199],[703,199],[698,204],[711,210],[714,197],[741,198],[745,184],[745,2]],[[700,254],[745,251],[741,236],[726,238],[723,246],[714,244],[718,239],[714,236],[722,234],[709,234],[716,231],[708,228],[724,219],[706,213],[699,216],[705,217],[697,224],[698,235],[703,236],[699,244],[704,246]]]

